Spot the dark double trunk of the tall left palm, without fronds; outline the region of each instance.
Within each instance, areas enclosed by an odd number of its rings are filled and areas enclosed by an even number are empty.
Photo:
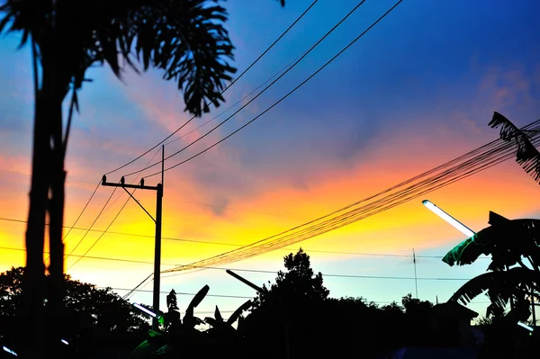
[[[58,56],[58,55],[57,55]],[[62,102],[67,94],[68,78],[62,76],[58,63],[42,59],[43,79],[36,99],[34,116],[34,148],[32,154],[32,182],[30,211],[26,233],[27,246],[27,291],[29,293],[30,328],[35,328],[32,357],[44,355],[44,335],[58,341],[58,329],[62,312],[64,253],[62,228],[64,214],[64,156],[62,147]],[[48,324],[45,329],[43,300],[45,299],[45,277],[43,248],[45,218],[49,211],[50,287]],[[58,353],[58,352],[57,352]]]

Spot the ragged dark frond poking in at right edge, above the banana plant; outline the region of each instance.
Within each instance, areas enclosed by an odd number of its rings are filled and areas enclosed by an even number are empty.
[[[496,129],[500,127],[500,138],[505,141],[515,140],[518,146],[516,161],[523,167],[527,174],[532,175],[536,182],[540,183],[540,152],[531,142],[527,133],[519,130],[509,119],[499,112],[493,113],[489,125]]]

